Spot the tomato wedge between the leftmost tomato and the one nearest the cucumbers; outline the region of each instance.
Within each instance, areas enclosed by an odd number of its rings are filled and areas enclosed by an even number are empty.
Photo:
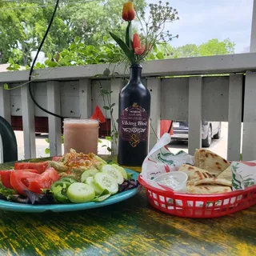
[[[14,190],[18,191],[19,194],[26,195],[24,193],[24,190],[28,189],[26,185],[37,179],[39,176],[39,174],[26,170],[13,170],[10,172],[10,185],[13,186]]]

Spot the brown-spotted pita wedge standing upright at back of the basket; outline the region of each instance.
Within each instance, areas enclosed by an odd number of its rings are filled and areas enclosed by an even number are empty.
[[[202,170],[207,170],[210,174],[218,175],[223,170],[226,170],[230,166],[230,163],[210,150],[201,149],[195,150],[194,165]]]

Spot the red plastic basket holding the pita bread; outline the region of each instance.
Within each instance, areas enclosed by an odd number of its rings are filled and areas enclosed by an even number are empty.
[[[139,175],[150,205],[167,214],[186,218],[215,218],[233,214],[256,204],[256,185],[226,194],[179,194],[159,190]]]

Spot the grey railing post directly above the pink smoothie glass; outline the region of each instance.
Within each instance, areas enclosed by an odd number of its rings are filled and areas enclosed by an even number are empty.
[[[91,110],[91,80],[79,79],[80,118],[90,118]]]

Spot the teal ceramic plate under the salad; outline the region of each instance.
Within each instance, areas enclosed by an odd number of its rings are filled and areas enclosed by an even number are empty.
[[[127,173],[133,174],[132,178],[138,180],[138,173],[134,170],[126,169]],[[122,193],[114,194],[110,198],[107,198],[102,202],[84,202],[84,203],[69,203],[69,204],[55,204],[55,205],[29,205],[22,204],[18,202],[9,202],[0,200],[0,210],[10,210],[10,211],[19,211],[27,213],[42,213],[46,210],[51,210],[54,212],[61,211],[73,211],[73,210],[87,210],[102,206],[113,205],[114,203],[124,201],[128,198],[133,197],[142,189],[142,186],[138,186],[132,190],[126,190]]]

